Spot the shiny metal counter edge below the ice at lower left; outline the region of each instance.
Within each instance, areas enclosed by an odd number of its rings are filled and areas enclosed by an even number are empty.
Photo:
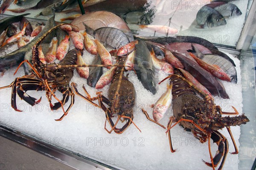
[[[108,164],[82,156],[79,153],[74,153],[70,150],[65,150],[64,148],[52,146],[37,140],[33,136],[22,133],[18,130],[14,130],[13,128],[7,127],[3,124],[0,124],[0,135],[75,169],[84,169],[84,167],[88,166],[88,164],[99,167],[103,170],[121,169],[111,167]]]

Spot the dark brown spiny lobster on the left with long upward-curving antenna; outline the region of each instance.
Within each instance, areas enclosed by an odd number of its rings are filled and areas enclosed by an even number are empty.
[[[64,24],[60,24],[61,26]],[[33,69],[34,73],[32,75],[24,75],[20,78],[15,78],[15,80],[9,85],[1,87],[0,89],[12,87],[12,99],[11,105],[16,111],[21,112],[21,110],[17,109],[16,106],[16,93],[20,96],[21,99],[26,101],[28,104],[34,106],[38,102],[41,101],[41,98],[36,101],[36,98],[33,98],[26,94],[26,91],[36,90],[36,91],[46,91],[47,99],[50,103],[50,107],[53,110],[59,109],[62,107],[64,114],[61,118],[56,119],[56,121],[62,120],[62,118],[67,115],[68,111],[74,104],[74,93],[72,89],[69,87],[69,82],[73,77],[73,68],[61,68],[61,66],[74,65],[76,64],[76,50],[71,50],[67,56],[59,63],[59,64],[44,64],[40,61],[38,57],[38,46],[44,40],[44,38],[56,29],[58,26],[53,27],[44,36],[41,37],[40,40],[32,47],[32,63],[33,66],[27,61],[23,61],[18,66],[17,70],[23,63],[28,63],[29,66]],[[16,73],[15,72],[15,73]],[[60,91],[63,94],[62,100],[59,100],[55,96],[56,90]],[[52,96],[58,101],[55,104],[51,103]],[[71,96],[71,103],[67,110],[64,110],[64,104],[69,100],[69,96]]]

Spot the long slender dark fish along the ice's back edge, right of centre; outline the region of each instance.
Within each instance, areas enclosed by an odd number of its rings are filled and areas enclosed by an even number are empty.
[[[205,40],[204,38],[201,37],[195,37],[195,36],[172,36],[172,37],[160,37],[160,38],[144,38],[143,40],[154,42],[154,43],[160,43],[160,44],[165,44],[165,43],[196,43],[200,44],[206,48],[211,48],[211,49],[216,49],[218,48],[213,45],[211,42],[208,40]]]

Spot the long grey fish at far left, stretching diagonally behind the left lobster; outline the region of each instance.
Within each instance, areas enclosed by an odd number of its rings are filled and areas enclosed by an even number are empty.
[[[49,29],[51,29],[53,26],[55,26],[54,18],[55,18],[54,16],[51,17],[47,21],[44,29],[32,41],[30,41],[28,44],[21,47],[20,49],[15,50],[14,52],[11,52],[10,54],[1,56],[0,57],[0,71],[9,69],[13,66],[17,66],[18,64],[20,64],[20,62],[24,60],[24,55],[26,54],[26,52],[29,51],[29,49],[31,49],[31,47],[34,46],[35,43],[37,43],[37,41],[46,32],[49,31]],[[55,32],[52,32],[52,33],[50,35],[48,35],[46,37],[46,39],[44,39],[44,43],[51,41],[52,37],[50,37],[50,36],[55,35]]]

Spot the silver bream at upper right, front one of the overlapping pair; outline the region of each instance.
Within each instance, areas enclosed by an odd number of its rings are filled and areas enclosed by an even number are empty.
[[[225,18],[215,9],[203,6],[196,15],[196,22],[201,28],[212,28],[226,25]]]

